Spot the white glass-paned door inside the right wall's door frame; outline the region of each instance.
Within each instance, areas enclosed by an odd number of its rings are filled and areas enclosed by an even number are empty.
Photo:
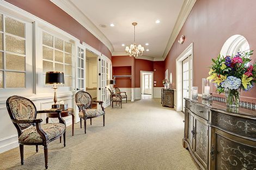
[[[182,111],[185,107],[185,99],[191,97],[192,90],[192,60],[191,55],[182,61]]]

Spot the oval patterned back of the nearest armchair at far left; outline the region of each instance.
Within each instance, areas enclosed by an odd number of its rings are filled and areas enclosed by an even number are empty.
[[[36,108],[34,103],[21,96],[11,96],[6,101],[7,110],[11,119],[35,119]],[[17,124],[14,123],[19,136],[22,130],[30,127],[32,123]]]

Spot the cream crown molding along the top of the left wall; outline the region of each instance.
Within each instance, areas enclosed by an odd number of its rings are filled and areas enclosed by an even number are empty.
[[[114,47],[107,37],[98,29],[95,24],[89,20],[89,18],[83,14],[70,0],[50,0],[56,4],[60,9],[64,10],[71,17],[75,18],[84,28],[92,33],[97,39],[99,39],[109,51],[113,52]]]

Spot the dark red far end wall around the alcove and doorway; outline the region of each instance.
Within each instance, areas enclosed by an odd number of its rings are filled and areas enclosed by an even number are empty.
[[[112,65],[113,65],[113,75],[122,74],[123,71],[120,69],[123,67],[124,72],[126,68],[124,66],[131,66],[131,86],[129,81],[126,79],[119,79],[118,85],[120,87],[141,87],[141,71],[154,71],[154,80],[156,81],[156,86],[162,87],[162,80],[164,79],[164,61],[149,61],[143,59],[135,59],[133,56],[112,56]],[[118,68],[116,68],[118,67]]]

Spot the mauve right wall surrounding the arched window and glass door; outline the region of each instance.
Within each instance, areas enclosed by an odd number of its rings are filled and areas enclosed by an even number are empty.
[[[224,42],[232,35],[246,37],[256,52],[255,0],[197,0],[165,60],[165,70],[173,73],[172,87],[176,88],[175,59],[194,42],[194,86],[202,91],[202,78],[208,77],[211,58],[216,58]],[[185,35],[180,45],[178,39]],[[256,55],[256,54],[255,54]],[[252,59],[255,62],[256,56]],[[242,92],[241,99],[256,102],[256,87]]]

